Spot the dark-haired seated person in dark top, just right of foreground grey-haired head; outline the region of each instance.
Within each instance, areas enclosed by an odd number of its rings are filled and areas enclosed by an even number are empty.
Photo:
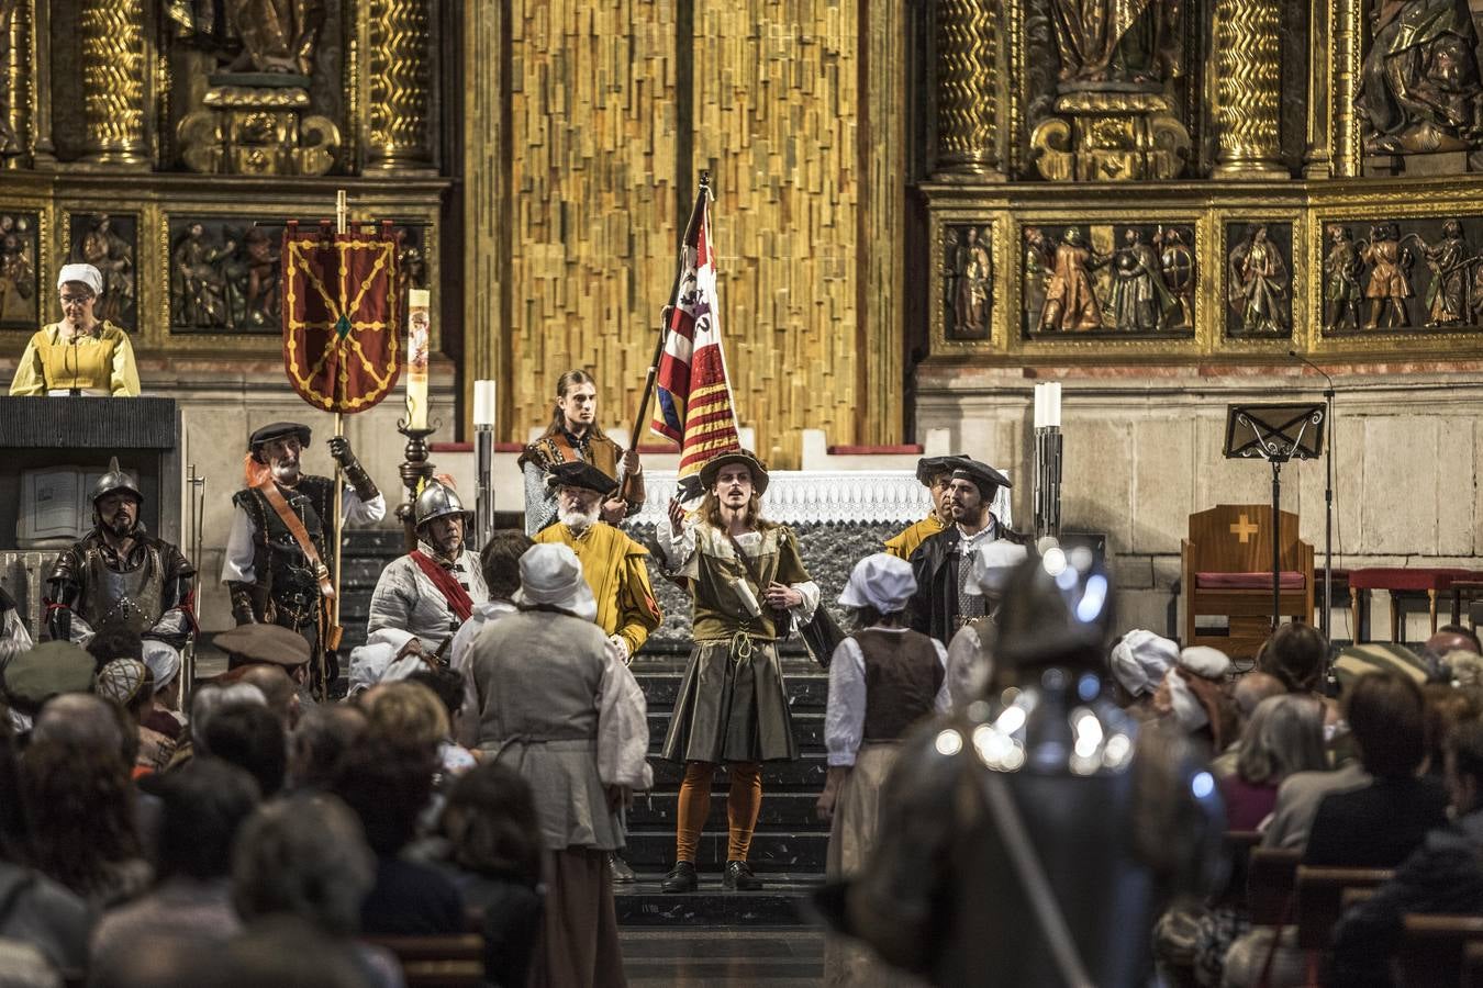
[[[426,692],[421,686],[405,686]],[[335,795],[360,818],[366,843],[377,855],[375,886],[360,905],[360,926],[366,933],[384,936],[461,933],[458,889],[436,868],[400,856],[433,792],[436,748],[381,733],[375,712],[371,724],[366,738],[341,763],[334,785]]]

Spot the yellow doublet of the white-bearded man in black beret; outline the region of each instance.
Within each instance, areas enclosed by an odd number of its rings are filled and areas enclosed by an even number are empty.
[[[635,655],[663,619],[644,564],[648,550],[602,521],[580,536],[558,521],[537,532],[535,541],[561,544],[577,554],[581,575],[598,598],[598,624],[621,637],[629,655]]]

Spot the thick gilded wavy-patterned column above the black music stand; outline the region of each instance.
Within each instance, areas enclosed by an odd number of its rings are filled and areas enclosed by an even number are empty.
[[[1216,0],[1216,178],[1289,178],[1281,163],[1281,0]]]

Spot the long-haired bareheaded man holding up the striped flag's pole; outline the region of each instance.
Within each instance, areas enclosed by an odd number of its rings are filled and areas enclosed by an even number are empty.
[[[644,507],[644,473],[636,449],[623,450],[598,427],[598,384],[586,370],[568,370],[556,381],[556,410],[538,440],[521,453],[525,474],[525,533],[556,521],[556,492],[546,475],[558,464],[586,462],[612,481],[602,499],[601,517],[617,524]],[[621,475],[618,474],[621,468]]]

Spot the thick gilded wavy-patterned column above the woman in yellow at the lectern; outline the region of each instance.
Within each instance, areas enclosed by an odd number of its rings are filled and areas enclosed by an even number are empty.
[[[147,169],[144,0],[85,0],[79,18],[89,164]]]

